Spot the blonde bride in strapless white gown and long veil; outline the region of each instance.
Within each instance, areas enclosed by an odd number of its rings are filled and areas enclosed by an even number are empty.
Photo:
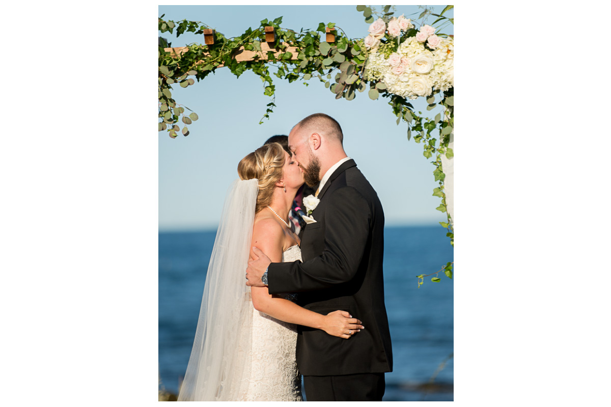
[[[273,262],[301,260],[287,220],[304,179],[278,143],[244,157],[238,175],[225,198],[178,401],[302,401],[296,325],[344,339],[364,327],[346,311],[318,314],[298,306],[294,294],[244,284],[255,243]]]

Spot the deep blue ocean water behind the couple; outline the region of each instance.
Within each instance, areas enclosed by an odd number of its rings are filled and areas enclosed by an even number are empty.
[[[453,281],[415,276],[453,261],[441,226],[384,230],[384,290],[393,349],[384,401],[453,401]],[[159,233],[159,375],[178,392],[197,327],[216,231]],[[307,397],[307,395],[306,395]]]

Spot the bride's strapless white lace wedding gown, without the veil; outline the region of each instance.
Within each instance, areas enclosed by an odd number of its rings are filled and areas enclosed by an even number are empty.
[[[282,253],[282,262],[296,260],[301,260],[299,246]],[[287,300],[295,298],[292,294],[281,296]],[[252,312],[251,373],[242,386],[243,401],[302,402],[301,375],[295,360],[296,325],[263,314],[254,307]]]

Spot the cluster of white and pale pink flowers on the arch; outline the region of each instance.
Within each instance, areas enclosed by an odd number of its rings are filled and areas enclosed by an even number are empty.
[[[365,46],[371,51],[365,66],[365,79],[382,81],[387,92],[409,99],[452,88],[454,39],[437,37],[434,27],[428,25],[420,27],[415,36],[404,37],[413,27],[411,20],[403,16],[393,18],[388,26],[381,18],[371,24],[371,34],[365,38]],[[384,29],[388,31],[387,37],[397,38],[399,44],[396,52],[390,55],[379,51]]]

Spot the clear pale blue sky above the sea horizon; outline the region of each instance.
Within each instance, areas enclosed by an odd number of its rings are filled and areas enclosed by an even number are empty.
[[[381,9],[381,6],[374,6]],[[417,5],[398,5],[397,16],[404,13],[417,18]],[[434,6],[436,13],[445,6]],[[350,38],[364,37],[369,24],[353,5],[334,6],[159,6],[159,16],[179,21],[202,21],[227,37],[242,34],[247,27],[258,27],[261,20],[282,16],[282,27],[316,29],[318,23],[334,22]],[[453,10],[447,13],[453,16]],[[433,17],[434,18],[434,17]],[[428,23],[434,20],[430,19]],[[443,31],[453,34],[450,25]],[[166,32],[172,46],[203,42],[202,35]],[[159,132],[159,229],[161,231],[216,228],[227,187],[237,178],[240,159],[275,134],[288,134],[291,127],[307,115],[324,112],[342,126],[344,147],[378,192],[387,225],[435,224],[445,214],[435,208],[440,200],[432,196],[437,186],[430,160],[422,155],[422,145],[407,139],[407,124],[396,124],[387,99],[372,101],[367,92],[352,101],[336,100],[318,80],[288,84],[276,79],[274,113],[263,124],[270,99],[263,95],[259,77],[247,71],[236,78],[219,68],[216,74],[188,88],[175,86],[172,95],[178,103],[197,112],[199,120],[189,126],[188,137],[170,139]],[[414,103],[416,110],[434,117],[437,110],[426,111],[426,101]],[[440,226],[441,227],[441,226]]]

